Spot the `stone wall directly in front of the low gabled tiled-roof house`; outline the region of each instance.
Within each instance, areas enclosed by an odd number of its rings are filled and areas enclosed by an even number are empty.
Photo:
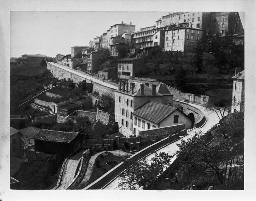
[[[145,131],[140,131],[140,136],[142,139],[150,139],[154,140],[156,138],[164,138],[168,137],[171,134],[175,134],[175,132],[181,132],[181,130],[185,129],[185,124],[179,124],[174,126],[166,126],[161,128],[155,128]]]

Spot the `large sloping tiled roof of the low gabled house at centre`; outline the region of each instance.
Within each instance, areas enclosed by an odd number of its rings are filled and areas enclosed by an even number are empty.
[[[135,110],[133,114],[156,124],[159,124],[175,110],[177,110],[176,107],[172,107],[170,105],[165,105],[155,101],[149,101],[137,110]]]

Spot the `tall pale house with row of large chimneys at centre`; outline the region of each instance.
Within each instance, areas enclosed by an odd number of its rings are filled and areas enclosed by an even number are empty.
[[[158,86],[152,84],[151,87],[139,82],[119,82],[119,88],[115,91],[115,121],[123,135],[129,137],[133,134],[133,112],[147,101],[173,104],[173,95],[167,88],[163,88],[166,86],[160,82]]]

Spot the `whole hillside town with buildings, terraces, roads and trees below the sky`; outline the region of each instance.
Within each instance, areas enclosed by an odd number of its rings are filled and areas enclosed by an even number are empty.
[[[97,32],[10,58],[10,188],[243,190],[240,13]]]

